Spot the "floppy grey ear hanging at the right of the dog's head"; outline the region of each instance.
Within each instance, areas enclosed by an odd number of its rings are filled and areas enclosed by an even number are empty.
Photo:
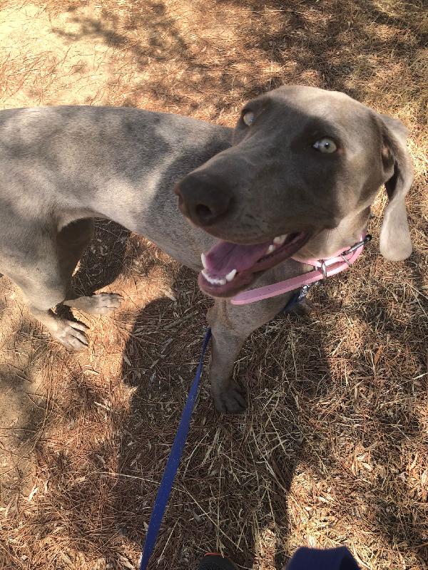
[[[379,115],[382,130],[382,163],[389,204],[384,211],[379,248],[392,261],[412,253],[405,198],[413,182],[412,160],[406,147],[407,128],[399,121]]]

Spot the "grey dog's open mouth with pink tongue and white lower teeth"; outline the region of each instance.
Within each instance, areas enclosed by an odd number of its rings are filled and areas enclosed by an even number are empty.
[[[202,254],[199,287],[213,297],[230,297],[248,286],[256,274],[295,254],[309,239],[308,232],[277,236],[270,242],[243,245],[219,240]]]

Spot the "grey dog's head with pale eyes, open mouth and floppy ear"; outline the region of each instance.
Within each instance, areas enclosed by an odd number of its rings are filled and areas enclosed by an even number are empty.
[[[361,230],[382,184],[389,204],[380,251],[409,257],[404,197],[411,183],[402,123],[343,93],[290,86],[245,105],[233,146],[175,192],[181,212],[219,239],[203,257],[201,289],[233,296],[297,252],[325,257],[326,236],[344,220],[357,220]]]

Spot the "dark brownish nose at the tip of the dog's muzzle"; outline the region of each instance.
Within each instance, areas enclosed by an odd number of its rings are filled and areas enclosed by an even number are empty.
[[[217,175],[193,172],[175,186],[178,207],[198,226],[211,226],[223,217],[232,204],[227,182]]]

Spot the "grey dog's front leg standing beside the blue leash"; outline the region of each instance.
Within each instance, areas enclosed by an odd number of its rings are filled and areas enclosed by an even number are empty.
[[[227,299],[215,299],[207,320],[213,332],[210,366],[211,393],[222,413],[242,413],[245,392],[232,379],[233,366],[245,339],[259,326],[275,317],[287,304],[290,294],[255,304],[235,306]]]

